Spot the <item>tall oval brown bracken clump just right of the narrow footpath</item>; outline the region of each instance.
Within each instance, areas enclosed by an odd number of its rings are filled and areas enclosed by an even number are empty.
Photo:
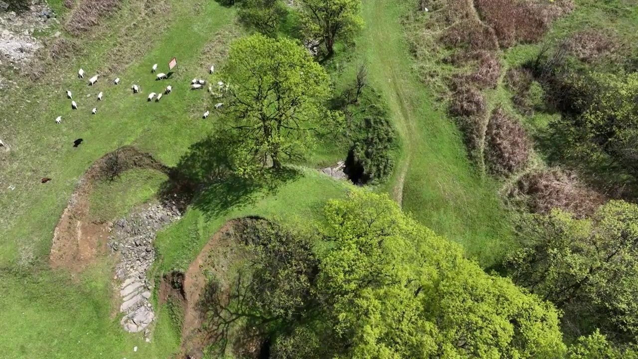
[[[532,145],[523,126],[500,107],[492,111],[487,123],[486,144],[487,163],[494,174],[512,174],[530,159]]]

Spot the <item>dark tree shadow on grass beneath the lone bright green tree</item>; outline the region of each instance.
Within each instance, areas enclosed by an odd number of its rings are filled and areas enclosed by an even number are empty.
[[[222,132],[191,145],[171,169],[161,198],[179,204],[181,211],[191,205],[216,218],[275,194],[281,185],[299,177],[299,172],[287,167],[264,169],[260,178],[238,176],[232,162],[238,141]]]

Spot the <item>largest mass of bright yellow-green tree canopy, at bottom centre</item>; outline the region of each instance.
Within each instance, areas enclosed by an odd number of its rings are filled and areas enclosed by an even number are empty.
[[[316,319],[281,335],[278,358],[559,358],[549,303],[486,275],[387,195],[330,201]]]

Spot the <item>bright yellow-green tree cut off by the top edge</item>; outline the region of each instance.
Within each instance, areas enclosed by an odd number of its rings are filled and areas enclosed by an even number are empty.
[[[318,39],[327,56],[337,40],[347,41],[363,26],[361,0],[300,0],[302,26],[308,39]]]

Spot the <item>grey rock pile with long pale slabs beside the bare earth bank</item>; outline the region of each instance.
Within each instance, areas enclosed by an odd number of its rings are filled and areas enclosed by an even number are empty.
[[[127,332],[144,330],[147,341],[151,340],[148,326],[155,319],[149,301],[152,284],[147,280],[147,271],[155,258],[152,243],[156,232],[178,220],[180,215],[174,204],[152,204],[115,222],[108,238],[108,247],[121,255],[121,261],[115,266],[116,279],[122,281],[120,311],[124,317],[120,324]]]

